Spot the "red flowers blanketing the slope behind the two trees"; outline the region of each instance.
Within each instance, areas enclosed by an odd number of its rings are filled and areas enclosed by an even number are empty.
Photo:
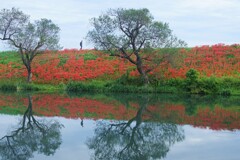
[[[87,55],[90,57],[86,58]],[[94,58],[91,59],[91,56]],[[145,58],[151,60],[152,57]],[[145,67],[150,65],[152,64],[147,63]],[[166,56],[155,67],[150,74],[161,79],[185,78],[191,68],[197,70],[201,77],[239,78],[240,45],[218,44],[181,49],[174,56]],[[135,66],[124,59],[109,57],[102,51],[77,49],[46,51],[34,59],[32,66],[33,81],[37,83],[117,79],[127,70],[129,75],[139,76]],[[0,64],[0,79],[21,76],[27,76],[22,64]]]

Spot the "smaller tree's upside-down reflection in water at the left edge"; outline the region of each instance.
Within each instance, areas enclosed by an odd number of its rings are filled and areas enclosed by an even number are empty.
[[[32,98],[17,129],[0,139],[0,156],[3,160],[27,160],[33,152],[53,155],[61,144],[60,129],[56,121],[38,121],[33,116]]]

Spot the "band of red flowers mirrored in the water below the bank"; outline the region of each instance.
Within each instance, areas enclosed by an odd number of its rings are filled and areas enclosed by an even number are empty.
[[[106,98],[70,98],[64,95],[39,94],[33,96],[35,115],[63,116],[66,118],[92,118],[129,120],[136,116],[140,106],[130,102],[125,107],[116,100]],[[28,99],[18,96],[0,95],[0,111],[8,107],[22,114],[28,106]],[[240,129],[240,113],[220,106],[213,109],[199,107],[195,115],[185,113],[185,106],[174,103],[156,102],[146,108],[142,115],[144,120],[190,124],[196,127],[209,127],[214,130]]]

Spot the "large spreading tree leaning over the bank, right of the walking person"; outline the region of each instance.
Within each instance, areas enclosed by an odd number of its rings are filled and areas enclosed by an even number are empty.
[[[88,32],[87,39],[97,49],[107,50],[112,56],[125,58],[136,65],[145,83],[149,83],[147,74],[154,69],[145,62],[159,63],[153,57],[155,48],[186,46],[173,35],[167,23],[154,21],[145,8],[110,9],[91,22],[93,29]]]

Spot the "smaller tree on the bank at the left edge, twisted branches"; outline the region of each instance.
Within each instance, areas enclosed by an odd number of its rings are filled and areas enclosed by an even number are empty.
[[[28,71],[27,82],[31,82],[32,61],[46,49],[59,48],[60,28],[49,19],[30,22],[29,16],[16,8],[0,11],[0,40],[18,49]]]

